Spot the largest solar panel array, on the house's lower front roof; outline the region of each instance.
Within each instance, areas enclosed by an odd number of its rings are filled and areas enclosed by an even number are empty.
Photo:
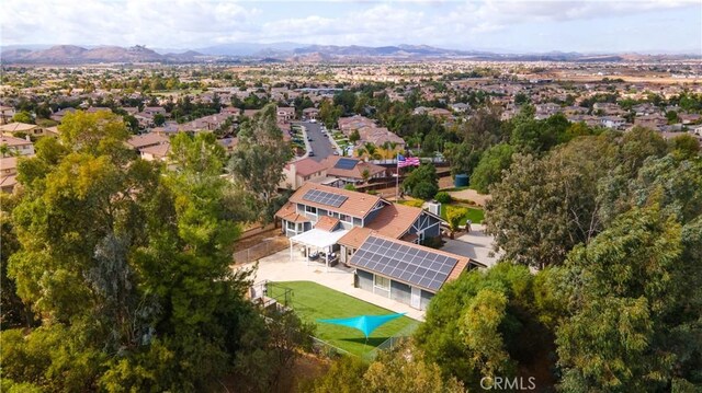
[[[410,285],[438,291],[458,259],[409,245],[369,236],[351,264]]]

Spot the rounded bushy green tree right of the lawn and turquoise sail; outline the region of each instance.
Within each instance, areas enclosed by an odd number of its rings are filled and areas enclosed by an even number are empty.
[[[540,322],[533,282],[526,267],[511,263],[462,275],[432,299],[417,347],[469,390],[484,377],[513,377],[518,367],[547,375],[553,337]]]

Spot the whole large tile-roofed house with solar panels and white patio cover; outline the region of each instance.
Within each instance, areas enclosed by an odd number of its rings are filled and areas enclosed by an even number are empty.
[[[355,268],[354,286],[423,310],[448,280],[469,267],[467,257],[419,245],[441,235],[441,218],[378,196],[306,183],[275,216],[308,257],[338,254]],[[329,259],[327,259],[329,263]]]

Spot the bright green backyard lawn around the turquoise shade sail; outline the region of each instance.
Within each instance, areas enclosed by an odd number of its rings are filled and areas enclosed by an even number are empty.
[[[348,350],[353,355],[362,356],[405,327],[417,323],[417,321],[407,316],[390,321],[374,331],[369,337],[366,345],[365,336],[363,336],[361,331],[327,323],[318,323],[317,320],[358,315],[385,315],[393,313],[393,311],[373,305],[312,281],[275,282],[269,286],[268,296],[276,298],[282,302],[284,289],[281,287],[293,290],[292,304],[290,305],[295,310],[297,315],[307,322],[316,323],[316,337]]]

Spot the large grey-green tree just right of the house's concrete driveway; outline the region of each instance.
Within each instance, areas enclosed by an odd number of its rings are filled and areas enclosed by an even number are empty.
[[[514,155],[494,184],[486,226],[505,257],[535,267],[562,263],[603,228],[599,185],[619,163],[607,136],[584,137],[543,159]]]

